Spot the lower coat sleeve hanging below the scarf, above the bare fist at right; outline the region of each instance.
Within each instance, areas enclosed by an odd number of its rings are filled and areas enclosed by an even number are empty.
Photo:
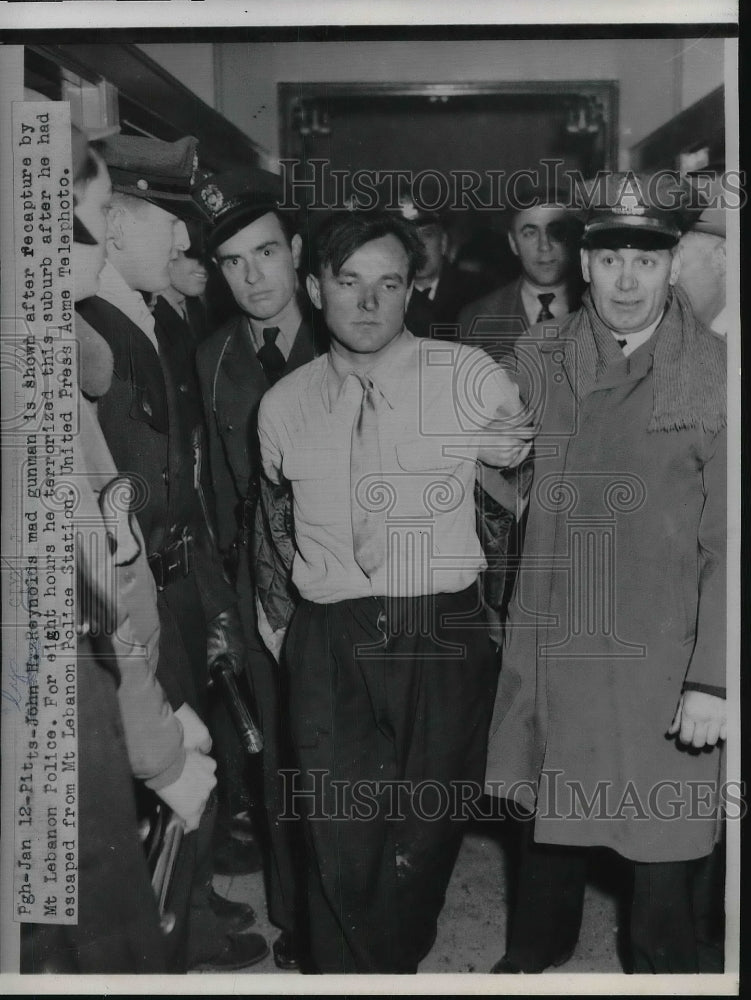
[[[702,468],[698,534],[699,605],[685,690],[724,696],[727,646],[727,433],[720,431]]]

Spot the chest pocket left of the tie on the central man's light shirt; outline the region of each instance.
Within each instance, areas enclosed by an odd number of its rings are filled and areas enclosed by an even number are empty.
[[[295,514],[308,524],[332,525],[347,513],[348,474],[333,448],[291,448],[282,457],[282,475],[292,484]]]

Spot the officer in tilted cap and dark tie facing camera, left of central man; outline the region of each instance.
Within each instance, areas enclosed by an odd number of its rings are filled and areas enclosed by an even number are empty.
[[[248,542],[260,471],[258,404],[282,375],[312,360],[315,347],[300,304],[296,268],[301,237],[289,215],[276,207],[274,178],[259,173],[251,179],[257,185],[253,190],[247,173],[228,173],[208,179],[197,192],[214,221],[209,251],[240,310],[199,346],[197,366],[209,429],[219,544],[225,552],[235,551],[250,682],[264,735],[268,907],[271,920],[282,930],[274,943],[274,959],[280,968],[296,968],[297,829],[279,820],[284,811],[279,769],[289,763],[280,714],[282,679],[258,631]]]

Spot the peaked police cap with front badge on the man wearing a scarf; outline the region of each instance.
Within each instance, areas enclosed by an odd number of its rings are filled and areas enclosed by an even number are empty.
[[[601,174],[581,195],[589,206],[582,245],[592,249],[669,250],[706,205],[685,177],[667,171]]]

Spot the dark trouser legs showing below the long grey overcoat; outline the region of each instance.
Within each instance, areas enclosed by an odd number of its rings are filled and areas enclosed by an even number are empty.
[[[506,955],[524,972],[541,972],[576,946],[587,879],[587,849],[536,844],[521,823],[516,903]],[[710,856],[711,857],[711,856]],[[709,859],[626,862],[633,870],[631,972],[716,972],[707,960]]]

